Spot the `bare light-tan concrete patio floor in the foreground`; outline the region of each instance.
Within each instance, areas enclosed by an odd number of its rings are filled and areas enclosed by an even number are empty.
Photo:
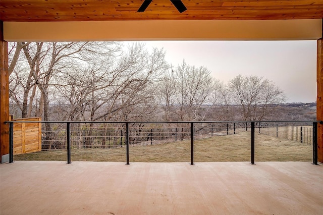
[[[0,214],[322,214],[306,162],[0,165]]]

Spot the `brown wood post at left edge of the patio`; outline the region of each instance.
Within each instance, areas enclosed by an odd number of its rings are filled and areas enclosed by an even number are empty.
[[[8,42],[4,40],[4,23],[0,21],[0,162],[9,162],[9,71]]]

